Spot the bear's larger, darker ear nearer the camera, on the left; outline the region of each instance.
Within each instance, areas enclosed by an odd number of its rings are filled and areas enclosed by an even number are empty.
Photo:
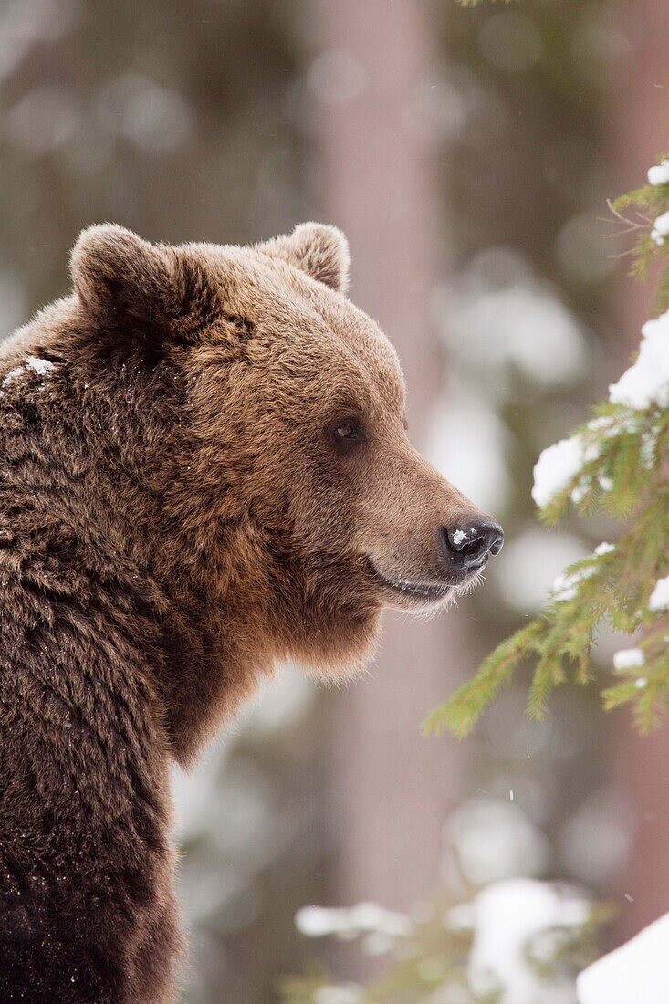
[[[112,223],[87,227],[72,249],[74,288],[90,316],[107,324],[190,327],[195,306],[206,299],[207,283],[181,250],[150,244]]]

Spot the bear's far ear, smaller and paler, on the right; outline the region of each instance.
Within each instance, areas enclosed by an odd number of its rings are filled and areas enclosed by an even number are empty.
[[[349,242],[338,227],[301,223],[290,235],[255,245],[256,251],[281,258],[340,293],[349,286]]]

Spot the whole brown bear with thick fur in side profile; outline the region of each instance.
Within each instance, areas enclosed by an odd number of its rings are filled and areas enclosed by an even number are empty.
[[[409,444],[348,247],[91,227],[0,365],[0,1000],[174,999],[171,758],[501,547]]]

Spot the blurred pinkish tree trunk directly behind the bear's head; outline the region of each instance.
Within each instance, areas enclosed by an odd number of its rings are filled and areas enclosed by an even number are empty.
[[[420,114],[433,59],[423,0],[313,0],[307,45],[317,210],[347,233],[352,296],[396,345],[420,447],[440,386],[429,318],[439,264],[436,155]],[[452,616],[388,615],[371,675],[330,714],[334,895],[407,906],[434,888],[441,830],[456,795],[454,744],[420,724],[452,686]]]

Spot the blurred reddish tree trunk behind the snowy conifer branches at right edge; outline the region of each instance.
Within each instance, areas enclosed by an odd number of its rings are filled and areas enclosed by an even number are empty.
[[[645,184],[646,171],[666,150],[669,102],[669,4],[636,0],[623,9],[623,17],[635,48],[635,71],[611,108],[619,192]],[[651,315],[656,288],[652,281],[641,285],[621,276],[623,362]],[[669,727],[643,739],[632,731],[629,715],[619,715],[611,732],[614,773],[632,795],[637,823],[621,887],[631,899],[621,900],[617,940],[622,940],[669,911]]]

